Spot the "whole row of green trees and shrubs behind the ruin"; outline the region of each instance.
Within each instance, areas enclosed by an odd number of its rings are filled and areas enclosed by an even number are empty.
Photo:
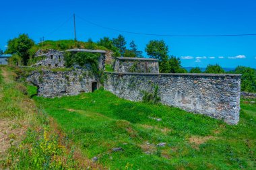
[[[87,48],[87,49],[101,49],[112,50],[113,56],[123,57],[143,57],[142,51],[138,50],[137,45],[132,40],[127,48],[125,37],[119,35],[117,38],[100,38],[98,42],[93,42],[90,38],[88,42],[80,42],[73,40],[59,40],[59,41],[45,41],[36,44],[34,40],[29,38],[28,34],[20,34],[17,38],[13,38],[8,42],[5,53],[13,54],[9,62],[15,65],[30,65],[34,60],[34,54],[37,50],[67,50],[70,48]],[[159,60],[160,73],[188,73],[186,69],[181,66],[180,58],[169,55],[168,46],[164,40],[151,40],[146,44],[146,54],[150,58]],[[3,53],[0,50],[0,54]],[[225,72],[220,65],[207,65],[205,71],[201,71],[199,67],[192,68],[189,73],[235,73],[242,74],[241,90],[247,92],[256,92],[256,70],[250,67],[238,66],[234,71]]]

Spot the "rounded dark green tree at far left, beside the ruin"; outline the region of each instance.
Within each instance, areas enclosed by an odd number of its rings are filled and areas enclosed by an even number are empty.
[[[6,53],[18,54],[22,58],[24,65],[27,65],[30,48],[34,46],[34,41],[28,37],[28,34],[20,34],[18,38],[8,41]]]

